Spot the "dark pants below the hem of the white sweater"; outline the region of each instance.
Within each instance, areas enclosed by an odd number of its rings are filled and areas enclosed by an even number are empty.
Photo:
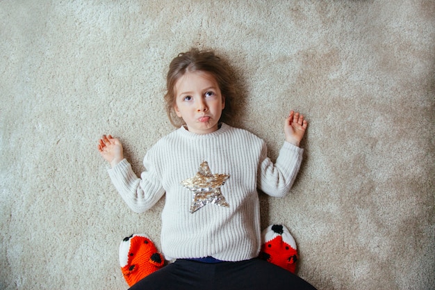
[[[178,259],[140,280],[131,290],[315,290],[293,273],[261,259],[208,264]]]

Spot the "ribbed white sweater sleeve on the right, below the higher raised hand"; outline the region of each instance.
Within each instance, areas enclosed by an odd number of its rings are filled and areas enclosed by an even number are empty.
[[[284,142],[279,151],[277,162],[274,164],[268,158],[268,150],[263,144],[257,176],[258,188],[274,197],[286,195],[295,182],[297,172],[299,172],[303,152],[302,148]]]

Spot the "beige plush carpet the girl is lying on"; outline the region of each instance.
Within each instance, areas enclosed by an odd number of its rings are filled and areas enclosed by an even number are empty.
[[[282,223],[318,289],[435,289],[434,1],[0,1],[0,289],[126,289],[124,236],[160,245],[97,152],[142,157],[172,131],[166,67],[191,46],[240,72],[233,124],[268,143],[306,114]]]

